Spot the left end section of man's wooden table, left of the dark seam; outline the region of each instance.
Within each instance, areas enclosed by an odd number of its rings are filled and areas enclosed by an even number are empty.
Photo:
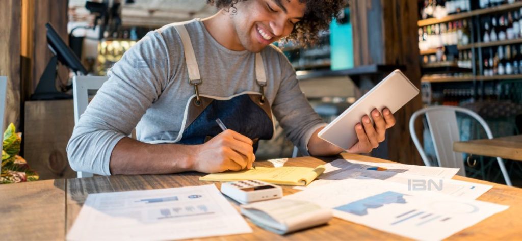
[[[0,185],[0,240],[65,239],[65,179]]]

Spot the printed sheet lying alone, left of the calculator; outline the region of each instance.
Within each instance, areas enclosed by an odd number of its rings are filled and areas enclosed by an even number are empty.
[[[214,185],[90,194],[67,240],[169,240],[252,233]]]

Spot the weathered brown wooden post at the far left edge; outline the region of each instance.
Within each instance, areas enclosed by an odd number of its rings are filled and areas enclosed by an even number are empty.
[[[0,76],[7,76],[4,126],[20,117],[20,11],[19,0],[0,1]],[[3,130],[2,130],[3,133]]]

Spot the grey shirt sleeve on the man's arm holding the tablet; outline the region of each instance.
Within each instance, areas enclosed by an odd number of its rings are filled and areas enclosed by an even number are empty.
[[[281,62],[282,80],[272,104],[272,111],[287,138],[299,148],[303,155],[310,155],[308,142],[314,132],[326,126],[314,111],[299,87],[295,70],[283,54],[278,54]]]

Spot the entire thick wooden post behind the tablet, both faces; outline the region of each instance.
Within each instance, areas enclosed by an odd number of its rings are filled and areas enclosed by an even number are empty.
[[[404,65],[404,73],[420,89],[417,4],[417,0],[351,0],[355,66]],[[372,82],[375,85],[384,77],[362,76],[356,82],[364,93],[373,87]],[[387,141],[372,155],[402,163],[422,164],[408,128],[409,118],[421,106],[419,95],[402,107],[395,114],[397,124],[388,130]],[[420,126],[417,129],[420,133]]]

